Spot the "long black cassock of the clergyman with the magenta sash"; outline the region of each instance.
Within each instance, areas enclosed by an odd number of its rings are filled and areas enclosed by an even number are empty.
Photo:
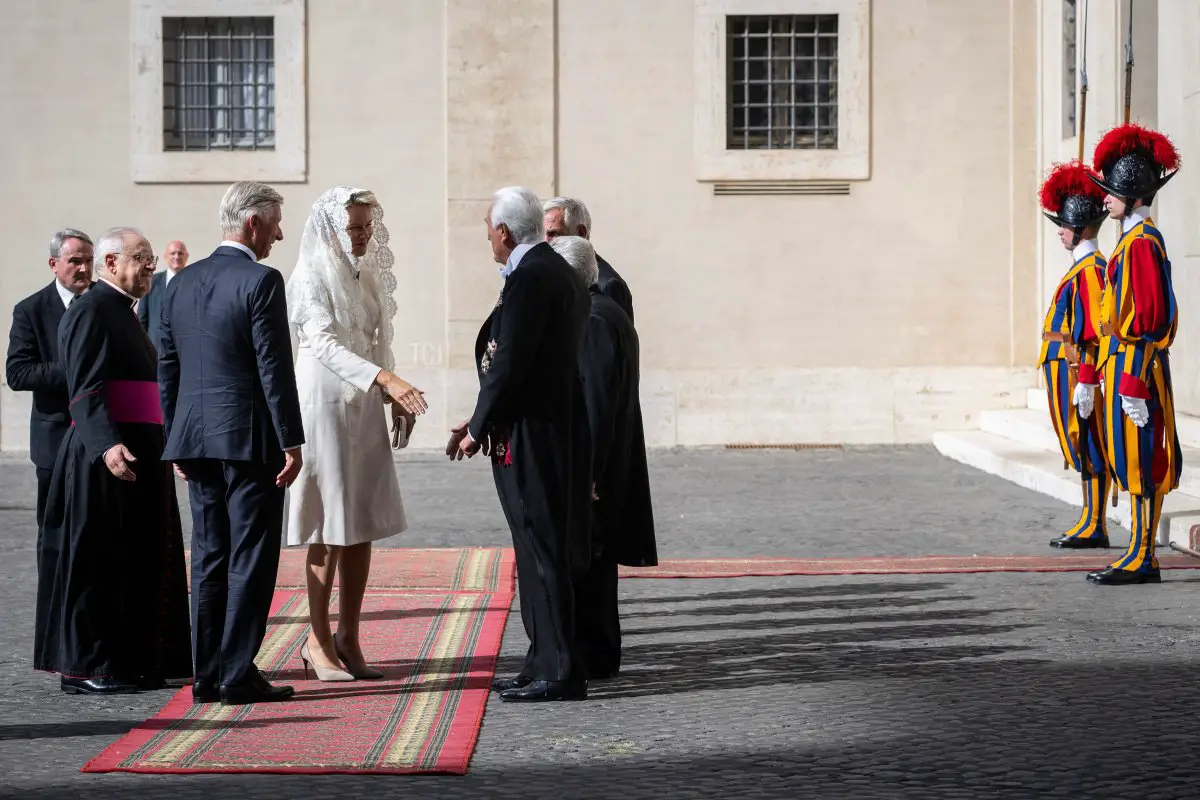
[[[73,423],[50,479],[34,666],[71,678],[192,675],[175,482],[162,425],[146,421],[157,359],[132,306],[100,282],[59,326]],[[106,467],[115,444],[137,458],[136,481]]]

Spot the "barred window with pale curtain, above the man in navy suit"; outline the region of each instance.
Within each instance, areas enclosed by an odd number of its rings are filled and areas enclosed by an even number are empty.
[[[164,17],[163,150],[275,149],[275,19]]]

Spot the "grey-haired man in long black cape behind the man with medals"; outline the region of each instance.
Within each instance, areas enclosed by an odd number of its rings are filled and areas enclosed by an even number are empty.
[[[580,236],[550,246],[592,294],[580,373],[592,432],[592,560],[575,582],[575,624],[588,680],[620,669],[617,565],[654,566],[654,511],[638,401],[638,343],[634,321],[596,285],[595,251]]]

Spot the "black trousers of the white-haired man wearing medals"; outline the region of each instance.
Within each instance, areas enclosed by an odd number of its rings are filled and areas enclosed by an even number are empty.
[[[570,558],[535,498],[523,498],[516,469],[493,464],[500,506],[512,531],[521,622],[529,637],[521,674],[533,680],[583,680],[576,646]]]

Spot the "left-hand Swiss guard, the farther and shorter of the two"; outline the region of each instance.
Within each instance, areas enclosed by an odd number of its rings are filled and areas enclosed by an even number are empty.
[[[1105,269],[1096,236],[1109,215],[1104,192],[1091,179],[1091,170],[1076,161],[1055,166],[1042,185],[1042,212],[1058,225],[1058,240],[1072,254],[1042,326],[1038,361],[1063,463],[1079,473],[1084,486],[1079,522],[1050,541],[1051,547],[1063,548],[1109,546],[1103,402],[1096,408]]]

